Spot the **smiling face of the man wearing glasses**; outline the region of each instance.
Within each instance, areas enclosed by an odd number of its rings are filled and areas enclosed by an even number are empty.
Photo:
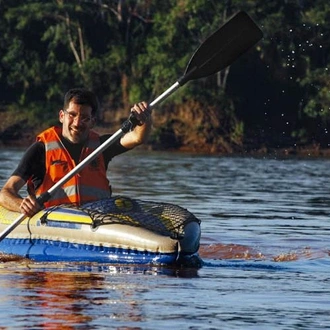
[[[92,108],[86,104],[69,103],[67,109],[60,110],[62,135],[72,143],[82,143],[88,138],[89,130],[94,125]]]

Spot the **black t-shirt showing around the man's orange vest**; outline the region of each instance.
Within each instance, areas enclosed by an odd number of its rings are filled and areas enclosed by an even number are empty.
[[[110,134],[100,136],[100,143],[102,144],[105,142],[110,136]],[[64,138],[61,140],[65,148],[70,153],[71,157],[74,159],[75,163],[78,164],[81,150],[84,144],[74,144]],[[110,147],[103,151],[105,168],[108,168],[108,164],[113,157],[127,150],[127,148],[120,144],[120,139],[110,145]],[[26,150],[12,175],[17,175],[25,181],[27,181],[29,178],[32,178],[34,186],[38,187],[42,183],[46,172],[45,152],[45,145],[43,142],[33,143]]]

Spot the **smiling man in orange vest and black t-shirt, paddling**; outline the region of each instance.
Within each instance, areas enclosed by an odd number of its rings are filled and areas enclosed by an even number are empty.
[[[32,182],[37,195],[48,191],[110,137],[110,134],[99,136],[92,130],[97,108],[98,101],[93,92],[81,88],[69,90],[64,97],[63,109],[59,111],[62,126],[51,127],[38,135],[0,191],[0,205],[28,217],[40,211],[42,206],[34,194],[22,198],[20,189]],[[139,124],[58,189],[45,206],[82,204],[111,196],[106,177],[109,161],[144,143],[151,129],[151,110],[145,102],[135,104],[131,111]]]

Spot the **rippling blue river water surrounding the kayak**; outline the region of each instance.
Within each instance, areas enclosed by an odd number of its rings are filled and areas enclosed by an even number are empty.
[[[0,151],[1,186],[21,154]],[[140,151],[109,177],[199,217],[203,267],[3,260],[1,329],[330,329],[330,160]]]

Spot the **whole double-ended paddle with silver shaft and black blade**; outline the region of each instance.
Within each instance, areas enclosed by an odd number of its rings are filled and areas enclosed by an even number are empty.
[[[174,91],[188,81],[210,76],[211,74],[229,66],[249,48],[254,46],[261,38],[262,31],[253,20],[245,12],[241,11],[237,13],[200,45],[191,57],[184,75],[163,94],[151,102],[149,107],[154,108],[158,103],[169,97]],[[134,117],[134,114],[131,114],[116,133],[95,149],[61,180],[54,184],[54,186],[47,192],[41,194],[37,198],[38,203],[43,205],[44,202],[51,198],[52,194],[58,188],[70,180],[83,167],[89,164],[100,153],[107,149],[117,139],[133,129],[136,125],[137,120]],[[8,228],[0,234],[0,242],[20,223],[22,223],[25,218],[26,216],[22,214],[10,226],[8,226]]]

